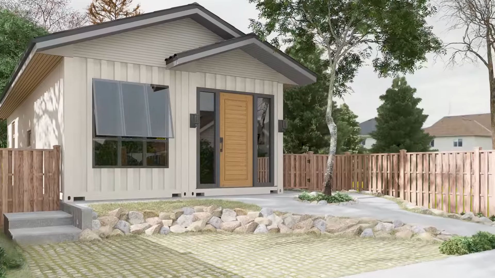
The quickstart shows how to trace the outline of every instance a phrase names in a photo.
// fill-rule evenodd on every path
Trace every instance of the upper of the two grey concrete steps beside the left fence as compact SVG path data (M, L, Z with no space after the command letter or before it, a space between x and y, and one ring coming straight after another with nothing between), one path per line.
M5 213L8 229L72 225L72 215L57 211Z

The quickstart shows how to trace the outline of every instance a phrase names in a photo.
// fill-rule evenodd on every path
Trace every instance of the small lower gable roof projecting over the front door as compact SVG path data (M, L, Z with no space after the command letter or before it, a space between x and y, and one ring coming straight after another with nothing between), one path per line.
M207 46L176 53L165 59L167 69L190 63L199 59L242 49L262 63L294 81L297 85L308 85L316 82L316 74L305 66L280 51L275 46L263 42L255 34L221 41Z

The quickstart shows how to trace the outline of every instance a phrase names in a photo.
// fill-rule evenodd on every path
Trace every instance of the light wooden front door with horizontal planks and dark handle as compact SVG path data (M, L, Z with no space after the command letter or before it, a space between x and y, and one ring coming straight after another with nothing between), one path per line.
M252 95L220 93L220 187L252 186Z

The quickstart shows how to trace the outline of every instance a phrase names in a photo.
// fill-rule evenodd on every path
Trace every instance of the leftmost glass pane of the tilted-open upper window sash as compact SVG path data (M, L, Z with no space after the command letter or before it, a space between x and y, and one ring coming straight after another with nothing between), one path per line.
M93 80L96 134L123 135L118 81Z

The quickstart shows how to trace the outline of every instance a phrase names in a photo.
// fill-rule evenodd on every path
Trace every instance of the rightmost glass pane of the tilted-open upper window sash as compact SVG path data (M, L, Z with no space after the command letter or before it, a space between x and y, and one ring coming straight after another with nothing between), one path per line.
M147 85L151 137L173 138L168 88Z

